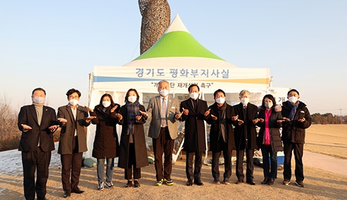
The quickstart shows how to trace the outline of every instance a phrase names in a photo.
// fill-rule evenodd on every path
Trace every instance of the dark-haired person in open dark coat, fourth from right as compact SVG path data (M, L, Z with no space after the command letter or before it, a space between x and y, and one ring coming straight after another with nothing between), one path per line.
M214 101L210 107L208 124L210 128L210 151L212 151L213 183L219 184L219 157L223 151L224 174L223 184L229 184L231 176L231 152L235 150L235 136L232 124L237 123L234 109L226 103L226 92L219 89L214 92Z

